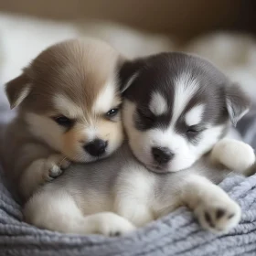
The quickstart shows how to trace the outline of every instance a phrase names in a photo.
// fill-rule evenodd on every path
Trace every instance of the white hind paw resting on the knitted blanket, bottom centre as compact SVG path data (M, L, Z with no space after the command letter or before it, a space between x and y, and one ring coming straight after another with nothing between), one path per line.
M98 225L98 233L107 237L122 236L136 229L128 219L111 212L105 213Z

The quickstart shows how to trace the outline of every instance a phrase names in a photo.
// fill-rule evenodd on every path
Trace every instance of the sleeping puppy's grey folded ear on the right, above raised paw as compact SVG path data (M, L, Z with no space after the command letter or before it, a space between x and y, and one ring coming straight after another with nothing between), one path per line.
M238 84L231 84L226 89L226 105L230 121L236 126L240 119L249 112L251 101Z

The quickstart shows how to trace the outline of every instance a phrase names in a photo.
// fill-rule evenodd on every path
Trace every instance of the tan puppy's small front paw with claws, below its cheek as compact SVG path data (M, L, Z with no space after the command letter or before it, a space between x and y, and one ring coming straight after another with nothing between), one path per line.
M70 162L65 156L59 154L50 155L44 165L44 180L51 181L60 176L69 165Z

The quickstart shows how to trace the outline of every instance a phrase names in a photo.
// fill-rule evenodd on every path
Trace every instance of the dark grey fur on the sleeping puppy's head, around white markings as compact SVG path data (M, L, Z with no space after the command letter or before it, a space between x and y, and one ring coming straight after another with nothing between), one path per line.
M127 76L131 77L138 72L130 87L124 91L125 99L137 104L136 127L148 130L157 127L166 127L172 120L173 102L175 97L175 80L184 73L191 74L191 80L196 79L199 88L188 102L185 111L180 115L176 123L179 133L184 133L184 116L195 105L207 103L202 123L228 122L229 116L240 116L250 106L249 98L240 90L239 86L230 83L228 78L219 69L205 59L197 58L183 53L162 53L146 59L137 59L123 65L120 72L121 80L125 83ZM160 117L155 117L148 110L150 97L153 91L159 91L168 102L168 112ZM229 100L229 114L226 100ZM148 123L143 117L150 116L155 120Z

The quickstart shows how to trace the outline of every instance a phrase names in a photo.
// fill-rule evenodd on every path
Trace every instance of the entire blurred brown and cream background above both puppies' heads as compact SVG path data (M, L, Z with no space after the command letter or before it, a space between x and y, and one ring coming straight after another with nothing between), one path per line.
M0 0L0 83L48 45L92 36L130 58L197 53L256 99L255 14L253 0Z

